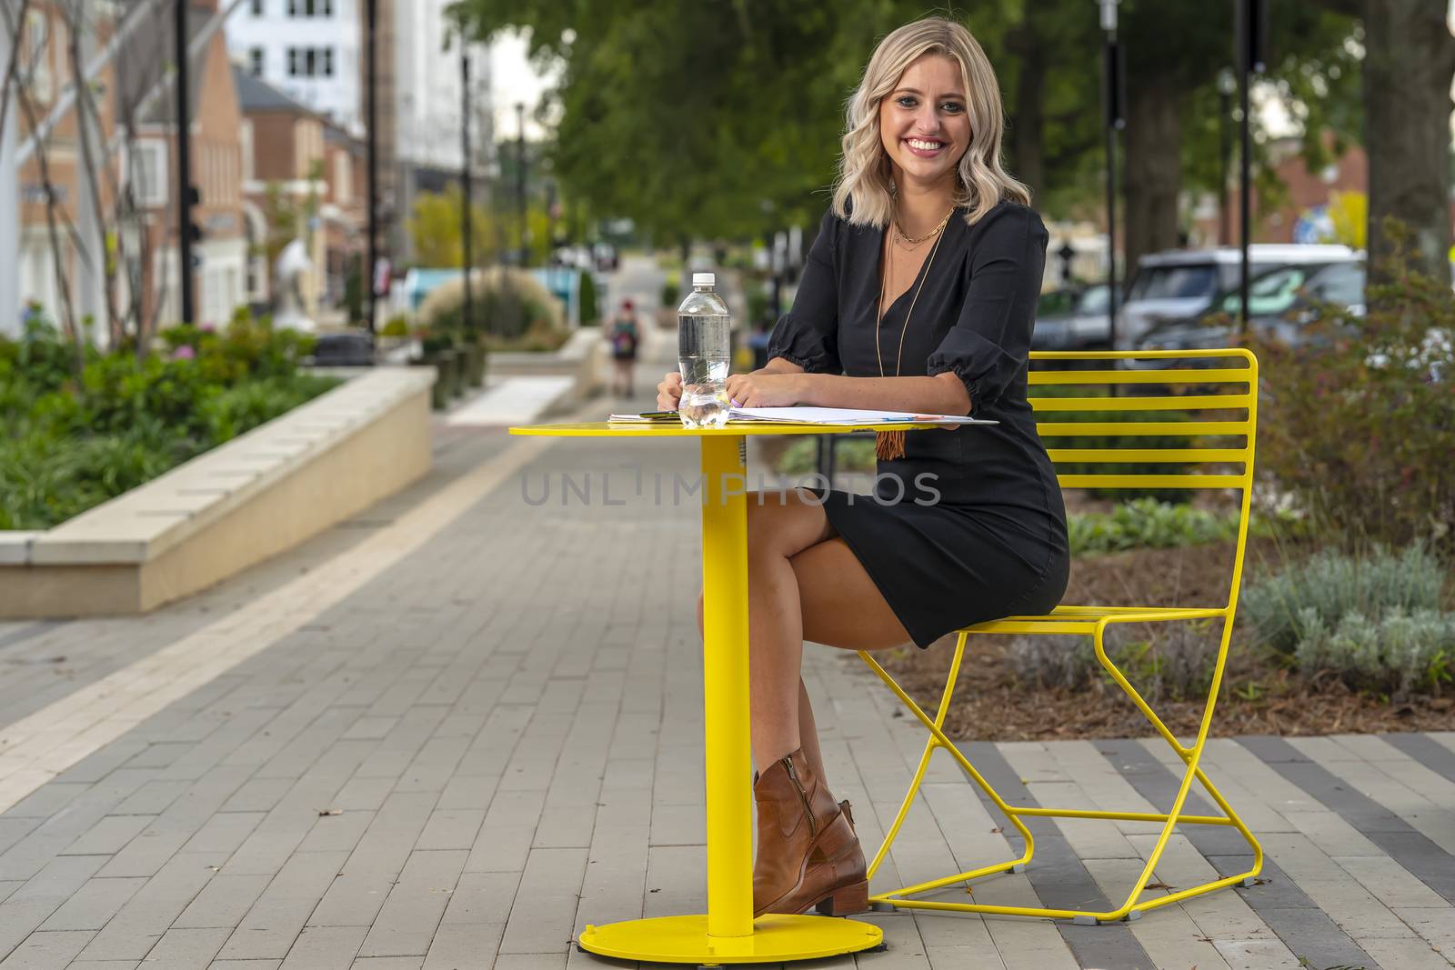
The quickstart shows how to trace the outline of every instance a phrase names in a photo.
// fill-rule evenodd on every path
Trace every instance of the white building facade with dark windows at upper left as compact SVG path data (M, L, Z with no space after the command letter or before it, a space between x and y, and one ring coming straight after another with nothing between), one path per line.
M362 135L361 7L362 0L243 0L227 22L228 55L253 77Z

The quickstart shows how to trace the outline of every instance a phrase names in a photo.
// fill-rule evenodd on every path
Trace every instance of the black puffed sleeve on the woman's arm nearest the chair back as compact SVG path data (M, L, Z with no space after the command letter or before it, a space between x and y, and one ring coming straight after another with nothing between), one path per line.
M965 305L925 364L931 377L954 371L965 382L972 417L1026 366L1049 240L1024 205L1001 205L975 228Z

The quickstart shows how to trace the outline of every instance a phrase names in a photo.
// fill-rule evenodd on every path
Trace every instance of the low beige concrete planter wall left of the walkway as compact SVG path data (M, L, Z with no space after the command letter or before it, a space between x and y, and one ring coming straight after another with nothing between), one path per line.
M44 532L0 532L0 618L140 614L429 470L429 368L370 369Z

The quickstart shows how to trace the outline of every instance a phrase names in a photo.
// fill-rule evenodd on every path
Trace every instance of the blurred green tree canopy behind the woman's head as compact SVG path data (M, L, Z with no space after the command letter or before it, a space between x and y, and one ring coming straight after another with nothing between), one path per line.
M477 35L528 32L560 65L554 175L595 212L659 241L745 237L810 224L828 204L844 105L874 44L925 16L902 0L460 0ZM997 68L1011 172L1048 215L1100 215L1101 42L1090 0L988 0L941 9ZM1232 9L1123 0L1132 103L1123 180L1129 257L1176 244L1184 185L1218 180L1216 77L1232 61ZM1312 164L1359 131L1358 20L1275 4L1269 90L1302 122ZM1264 180L1264 189L1267 189Z

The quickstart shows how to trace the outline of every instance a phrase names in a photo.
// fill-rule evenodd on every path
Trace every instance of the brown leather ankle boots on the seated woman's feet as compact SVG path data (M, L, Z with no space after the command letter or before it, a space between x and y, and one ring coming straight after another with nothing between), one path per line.
M752 867L752 915L826 916L869 909L864 852L847 801L834 803L799 749L780 758L752 785L758 803L758 858Z

